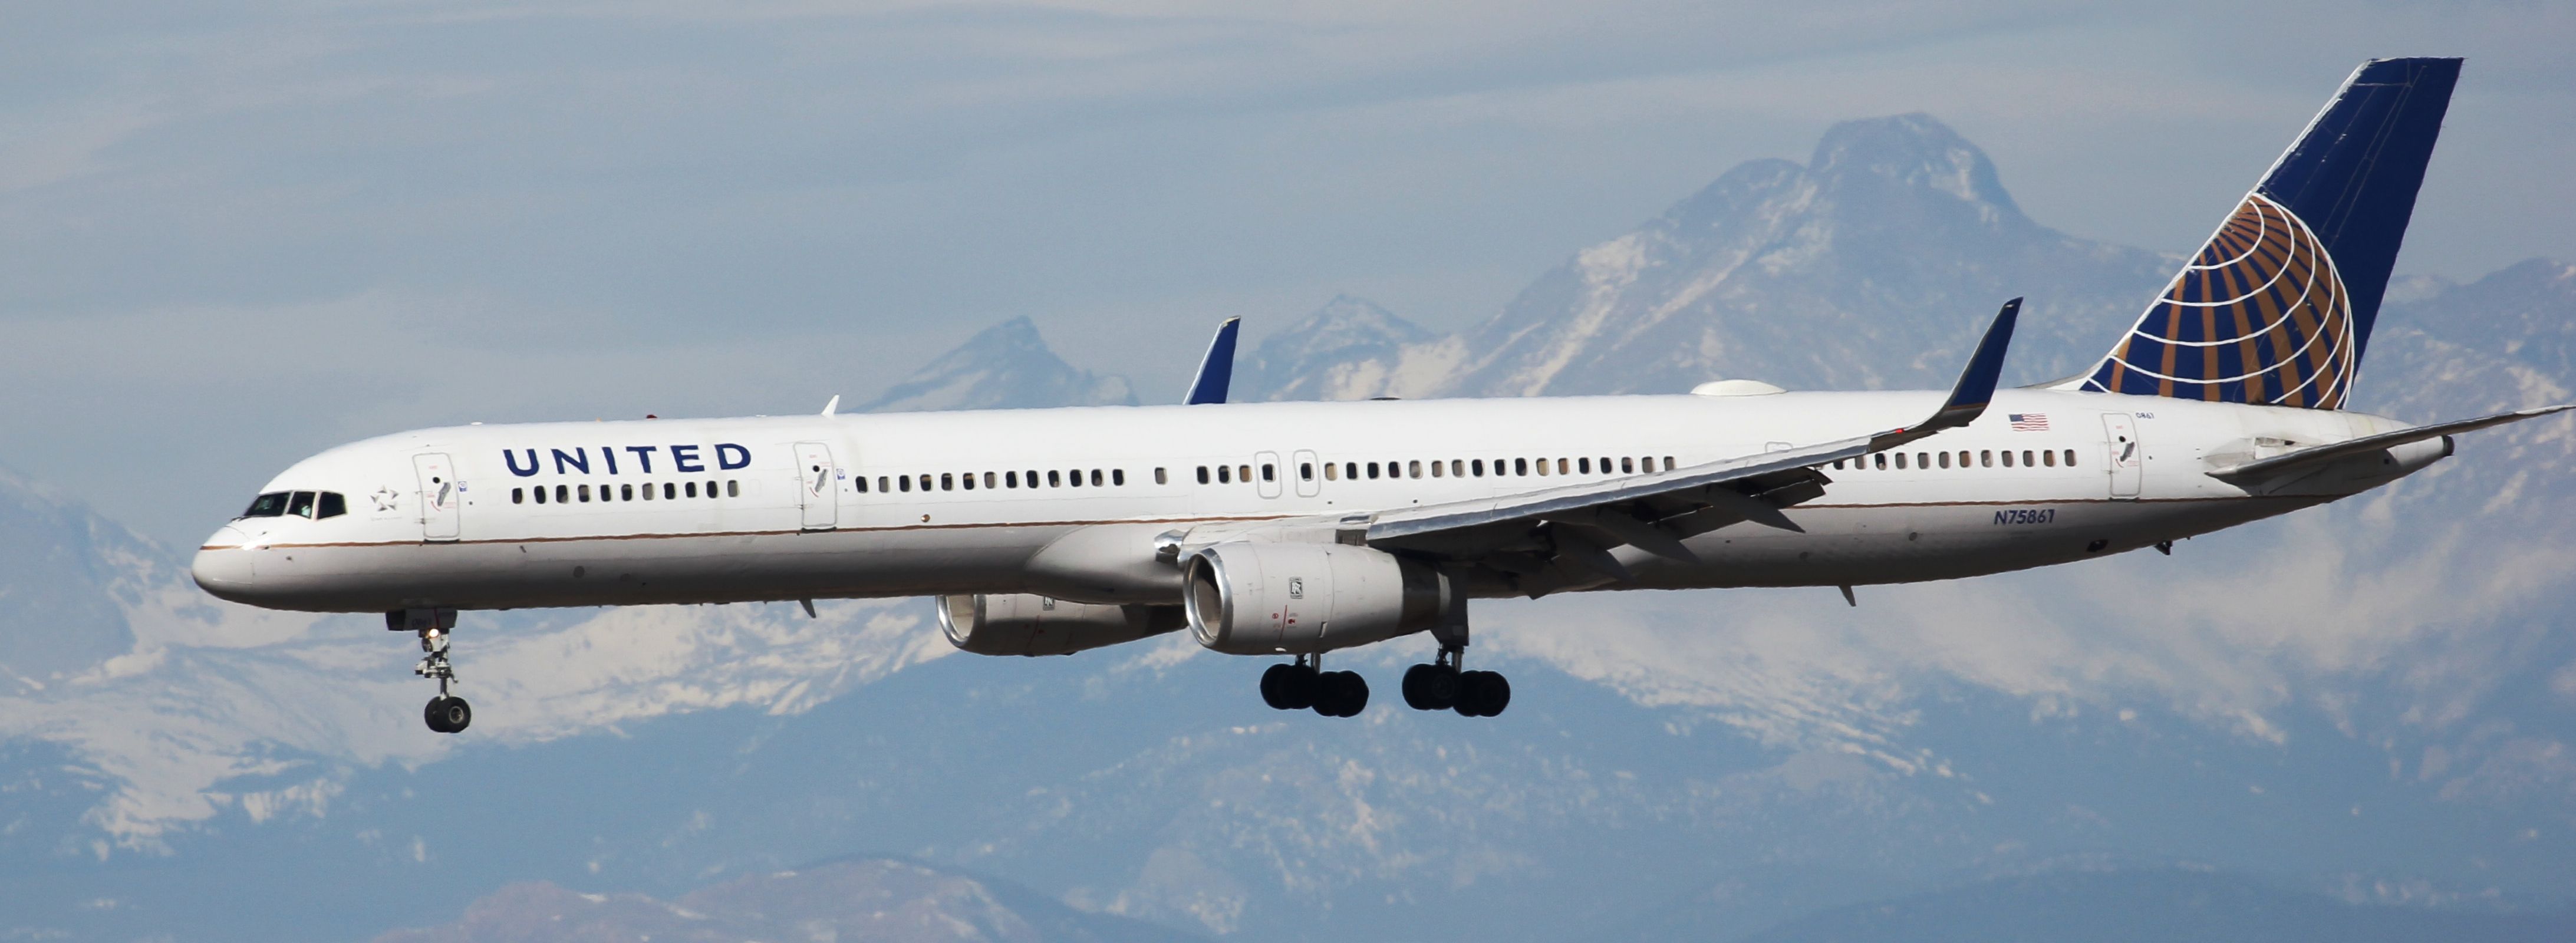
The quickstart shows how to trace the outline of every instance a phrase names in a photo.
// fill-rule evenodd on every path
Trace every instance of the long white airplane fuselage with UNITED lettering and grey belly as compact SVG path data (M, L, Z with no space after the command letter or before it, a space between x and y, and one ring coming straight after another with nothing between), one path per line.
M301 611L945 593L1177 603L1180 572L1154 559L1164 533L1690 466L1904 425L1940 399L1793 392L433 428L294 464L263 492L337 492L348 513L237 518L198 551L196 575L222 598ZM1692 536L1698 564L1618 549L1633 580L1605 587L1911 582L2128 551L2439 459L2439 448L2393 451L2262 495L2205 474L2398 428L2354 412L2007 389L1968 428L1824 466L1832 484L1785 510L1790 528L1747 520ZM1880 469L1899 453L1904 469Z

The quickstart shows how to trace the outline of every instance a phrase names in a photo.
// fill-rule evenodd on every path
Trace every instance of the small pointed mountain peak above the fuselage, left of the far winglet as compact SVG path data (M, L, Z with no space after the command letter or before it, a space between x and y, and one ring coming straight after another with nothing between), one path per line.
M855 412L1133 407L1126 376L1074 368L1028 317L987 327Z

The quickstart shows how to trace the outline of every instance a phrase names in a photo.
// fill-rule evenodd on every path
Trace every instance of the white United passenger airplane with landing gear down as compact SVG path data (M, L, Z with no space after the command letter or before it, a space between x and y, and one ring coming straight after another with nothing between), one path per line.
M433 732L461 611L933 595L976 654L1188 629L1262 701L1355 716L1327 652L1409 634L1409 709L1497 716L1468 600L1839 587L2050 567L2396 482L2452 435L2344 410L2460 59L2354 70L2084 376L1996 389L2020 299L1947 392L1224 402L456 425L296 461L204 541L250 605L420 636ZM1224 361L1224 363L1218 363Z

